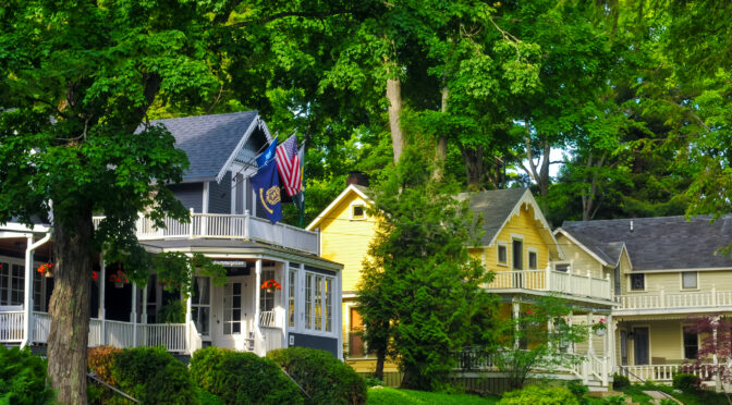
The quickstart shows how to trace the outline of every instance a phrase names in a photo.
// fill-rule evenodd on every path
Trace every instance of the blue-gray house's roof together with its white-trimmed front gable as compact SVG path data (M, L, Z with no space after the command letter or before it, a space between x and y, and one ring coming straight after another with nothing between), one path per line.
M253 164L257 145L272 140L256 111L162 119L150 124L164 125L175 137L175 147L187 155L191 165L183 174L184 183L220 182L232 162L246 159Z

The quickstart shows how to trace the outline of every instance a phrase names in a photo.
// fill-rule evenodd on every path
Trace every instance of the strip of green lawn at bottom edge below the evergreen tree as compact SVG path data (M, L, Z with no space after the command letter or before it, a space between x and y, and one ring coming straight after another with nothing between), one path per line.
M497 396L480 397L469 394L446 394L398 390L392 388L368 389L367 405L406 405L406 404L440 404L440 405L489 405L498 403Z

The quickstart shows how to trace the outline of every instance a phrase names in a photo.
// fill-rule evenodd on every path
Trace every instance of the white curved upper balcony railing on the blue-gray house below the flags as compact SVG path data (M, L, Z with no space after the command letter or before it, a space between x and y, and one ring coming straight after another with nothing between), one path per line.
M95 228L105 217L94 217ZM163 219L164 228L141 217L136 222L136 235L141 241L171 238L222 238L259 241L295 250L318 254L318 233L270 221L252 214L195 213L191 210L190 222L172 218Z

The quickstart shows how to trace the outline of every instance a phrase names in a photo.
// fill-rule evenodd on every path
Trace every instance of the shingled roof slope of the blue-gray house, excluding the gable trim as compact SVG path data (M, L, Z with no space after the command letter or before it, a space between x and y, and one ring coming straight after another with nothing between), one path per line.
M154 120L175 137L175 147L188 156L191 167L183 182L213 180L239 145L257 111Z

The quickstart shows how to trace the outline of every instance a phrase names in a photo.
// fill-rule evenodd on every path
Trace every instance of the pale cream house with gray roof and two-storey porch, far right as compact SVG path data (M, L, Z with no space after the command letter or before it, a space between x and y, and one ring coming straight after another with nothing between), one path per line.
M695 358L690 318L732 312L732 216L564 222L556 236L572 267L614 273L615 363L632 380L670 381Z

